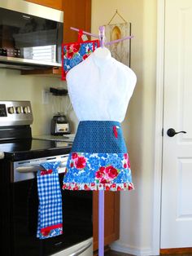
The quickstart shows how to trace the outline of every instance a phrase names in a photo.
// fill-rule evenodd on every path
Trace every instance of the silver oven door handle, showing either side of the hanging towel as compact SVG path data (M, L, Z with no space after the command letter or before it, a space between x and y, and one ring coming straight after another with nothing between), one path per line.
M65 173L66 166L67 166L67 161L61 161L58 168L58 173L59 174ZM34 173L34 172L37 172L38 170L45 170L45 169L39 164L39 165L18 166L15 168L15 170L21 174L24 174L24 173L32 173L32 172Z

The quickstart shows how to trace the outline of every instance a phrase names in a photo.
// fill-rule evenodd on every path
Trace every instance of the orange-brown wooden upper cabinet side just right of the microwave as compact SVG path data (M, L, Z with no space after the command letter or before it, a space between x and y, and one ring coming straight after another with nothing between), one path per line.
M77 40L77 32L70 27L90 32L91 0L63 0L63 11L63 42L76 42Z

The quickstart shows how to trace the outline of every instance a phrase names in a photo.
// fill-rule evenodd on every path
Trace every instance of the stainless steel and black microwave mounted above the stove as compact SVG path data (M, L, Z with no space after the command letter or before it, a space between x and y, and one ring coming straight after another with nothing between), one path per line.
M23 0L0 1L0 68L61 67L63 11Z

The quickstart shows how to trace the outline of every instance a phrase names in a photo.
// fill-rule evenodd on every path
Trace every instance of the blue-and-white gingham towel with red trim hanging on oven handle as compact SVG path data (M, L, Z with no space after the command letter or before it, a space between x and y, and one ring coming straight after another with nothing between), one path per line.
M41 164L45 170L37 171L39 197L37 237L45 239L63 233L62 196L59 184L60 162Z

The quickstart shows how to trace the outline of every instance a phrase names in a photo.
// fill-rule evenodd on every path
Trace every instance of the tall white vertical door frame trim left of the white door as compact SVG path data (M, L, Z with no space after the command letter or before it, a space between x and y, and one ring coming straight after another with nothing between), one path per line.
M157 72L156 72L156 111L155 111L155 165L154 165L154 200L152 252L159 255L160 247L160 207L161 174L164 121L164 7L165 0L157 0Z

